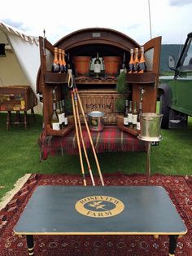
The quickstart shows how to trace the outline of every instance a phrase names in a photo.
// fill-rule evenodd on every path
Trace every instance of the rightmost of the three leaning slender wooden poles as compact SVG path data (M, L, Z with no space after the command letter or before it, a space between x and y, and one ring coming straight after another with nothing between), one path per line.
M86 129L87 129L87 133L88 133L88 135L89 135L89 141L90 141L90 143L91 143L91 147L92 147L92 150L93 150L93 152L94 152L95 162L96 162L96 165L97 165L97 167L98 167L98 174L99 174L99 177L100 177L100 179L101 179L101 183L102 183L102 185L104 186L105 184L104 184L104 181L103 181L103 175L102 175L100 166L99 166L99 164L98 164L98 157L97 157L97 154L96 154L96 152L95 152L93 139L91 138L91 135L90 135L89 126L88 126L88 124L87 124L87 120L86 120L86 117L85 117L85 112L84 112L83 106L82 106L82 104L81 104L81 99L80 99L80 96L79 96L79 94L78 94L77 88L76 88L75 90L76 90L76 97L77 97L77 99L78 99L78 103L79 103L80 108L81 108L81 113L82 113L82 115L83 115L83 117L84 117L84 121L85 121L85 126L86 126Z

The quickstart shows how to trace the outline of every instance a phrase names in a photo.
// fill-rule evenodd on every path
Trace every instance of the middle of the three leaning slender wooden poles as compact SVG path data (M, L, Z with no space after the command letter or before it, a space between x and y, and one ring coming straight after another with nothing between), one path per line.
M76 91L75 90L73 90L73 94L74 94L74 98L75 98L76 117L77 117L77 122L78 122L78 125L79 125L79 131L80 131L80 136L81 136L81 142L82 142L83 150L84 150L84 153L85 153L85 159L87 161L87 166L88 166L88 169L89 169L89 174L90 174L90 178L91 178L92 184L93 184L93 186L95 186L94 176L93 176L92 170L90 168L89 158L88 158L88 155L87 155L87 152L86 152L85 142L84 142L84 139L83 139L83 134L82 134L82 129L81 129L81 121L80 121L80 116L79 116L79 109L78 109L78 104L77 104L77 100L76 100Z

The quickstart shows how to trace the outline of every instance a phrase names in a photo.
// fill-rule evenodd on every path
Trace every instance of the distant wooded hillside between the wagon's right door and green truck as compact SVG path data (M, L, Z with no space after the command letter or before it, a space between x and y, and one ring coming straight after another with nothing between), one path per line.
M174 55L175 60L178 60L178 56L181 53L182 46L180 44L166 44L161 46L160 54L160 73L163 71L169 71L168 68L168 56Z

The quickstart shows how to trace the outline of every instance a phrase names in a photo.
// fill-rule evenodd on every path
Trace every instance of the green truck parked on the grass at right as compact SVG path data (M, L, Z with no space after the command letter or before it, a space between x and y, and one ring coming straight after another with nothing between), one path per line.
M174 56L169 56L168 65L174 75L159 77L159 111L164 114L161 127L181 128L192 116L192 33L187 35L177 64Z

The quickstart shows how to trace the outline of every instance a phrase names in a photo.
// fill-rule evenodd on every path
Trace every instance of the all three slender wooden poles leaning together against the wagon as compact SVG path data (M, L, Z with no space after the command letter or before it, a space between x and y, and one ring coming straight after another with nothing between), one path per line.
M83 106L81 104L81 99L80 99L80 96L78 94L78 90L76 88L76 83L75 83L74 77L72 76L72 73L68 74L68 87L72 89L71 90L72 111L73 111L74 121L75 121L76 140L77 140L77 145L78 145L78 150L79 150L79 157L80 157L80 163L81 163L81 173L82 173L82 176L83 176L84 186L86 186L86 179L85 179L85 170L84 170L84 164L83 164L83 157L82 157L82 152L81 152L81 143L82 143L82 147L83 147L83 150L84 150L85 159L86 159L86 162L87 162L87 166L88 166L88 169L89 169L89 174L90 174L90 178L91 178L93 186L95 186L95 183L94 183L94 176L93 176L92 170L90 168L90 164L89 164L89 158L88 158L87 151L86 151L86 148L85 148L84 138L83 138L83 135L82 135L81 120L80 120L80 115L79 115L78 104L81 108L81 113L84 117L86 130L87 130L87 133L88 133L88 136L89 136L89 141L90 141L90 144L91 144L91 148L94 152L94 159L95 159L96 165L98 167L98 174L99 174L99 177L101 179L102 186L104 186L103 175L102 175L100 166L98 164L98 157L97 157L97 154L95 152L93 139L90 135L89 126L87 124L87 120L86 120L86 117L85 117L85 112L84 112ZM80 138L81 138L81 141L80 141Z

